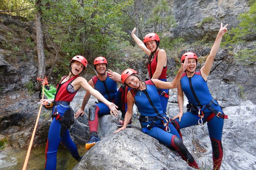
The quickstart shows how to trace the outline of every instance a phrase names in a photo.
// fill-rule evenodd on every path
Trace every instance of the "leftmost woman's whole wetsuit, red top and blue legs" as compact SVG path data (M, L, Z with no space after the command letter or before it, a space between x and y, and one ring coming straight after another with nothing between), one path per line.
M73 86L71 85L72 81L74 81L79 75L70 78L68 81L61 83L66 77L60 81L57 86L57 92L55 95L54 102L57 101L64 101L64 102L71 102L76 95L78 90L74 90ZM58 114L63 117L65 111L70 110L69 105L66 104L58 104L53 106L53 113L58 112ZM76 160L80 160L80 155L78 153L78 149L76 148L75 143L71 140L69 135L69 130L66 129L62 124L59 123L56 118L53 118L53 121L49 128L47 145L46 145L46 170L54 170L56 169L57 163L57 151L62 141L63 145L68 148L69 152L71 153L72 157Z

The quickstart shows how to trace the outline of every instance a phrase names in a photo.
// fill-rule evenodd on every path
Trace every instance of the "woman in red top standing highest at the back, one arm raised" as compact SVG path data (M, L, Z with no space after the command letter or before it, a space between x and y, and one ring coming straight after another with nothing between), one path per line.
M135 35L136 28L132 30L131 36L138 46L149 56L146 63L150 79L166 81L167 56L163 49L159 48L160 38L156 33L147 34L143 42ZM158 89L161 105L166 112L169 98L169 89Z

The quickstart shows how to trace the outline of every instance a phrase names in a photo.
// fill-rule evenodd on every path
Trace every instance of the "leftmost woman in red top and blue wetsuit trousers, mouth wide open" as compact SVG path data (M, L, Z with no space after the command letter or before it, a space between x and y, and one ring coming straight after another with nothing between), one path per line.
M86 91L89 91L90 94L105 103L110 108L111 114L117 115L118 113L116 109L117 106L114 103L107 101L106 98L100 94L100 92L93 89L83 77L79 76L79 74L85 70L86 66L87 60L83 56L73 57L69 65L69 75L62 77L60 80L54 100L41 100L41 102L53 102L53 121L49 128L46 145L45 169L47 170L56 169L57 151L61 141L65 147L68 148L73 158L78 161L81 160L75 143L70 138L68 130L71 124L74 123L74 112L69 105L80 87L84 88Z

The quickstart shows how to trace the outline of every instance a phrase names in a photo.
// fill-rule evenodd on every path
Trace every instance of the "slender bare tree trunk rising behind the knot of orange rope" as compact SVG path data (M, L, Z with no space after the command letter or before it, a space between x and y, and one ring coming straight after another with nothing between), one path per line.
M41 0L36 2L36 36L37 36L37 56L38 56L38 78L45 78L45 57L44 57L44 46L43 46L43 25L41 21ZM40 90L41 81L37 81L35 90Z

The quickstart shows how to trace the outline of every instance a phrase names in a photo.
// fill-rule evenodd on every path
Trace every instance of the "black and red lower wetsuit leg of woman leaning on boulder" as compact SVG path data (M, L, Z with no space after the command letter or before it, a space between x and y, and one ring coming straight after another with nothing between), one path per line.
M171 149L177 151L181 155L181 158L188 162L188 165L195 169L199 169L193 156L191 155L190 152L188 152L187 148L185 147L185 145L183 144L182 140L179 137L175 135L172 136L171 146Z

